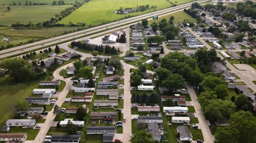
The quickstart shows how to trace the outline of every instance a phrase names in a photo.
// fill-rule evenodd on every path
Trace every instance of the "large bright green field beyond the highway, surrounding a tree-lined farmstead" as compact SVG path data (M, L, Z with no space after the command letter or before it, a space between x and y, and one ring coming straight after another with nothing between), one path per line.
M188 0L183 0L184 2ZM59 23L69 23L72 21L73 23L85 21L87 25L97 25L101 24L102 22L110 22L114 21L115 19L121 19L125 17L124 14L115 14L114 11L119 9L120 7L125 8L136 8L137 6L141 5L150 5L157 6L157 9L164 9L167 7L172 6L169 2L165 0L92 0L87 4L84 4L82 7L71 13L69 16L65 17ZM144 12L136 12L127 14L129 15L139 15L142 13L147 13L153 11L154 9L148 9Z

